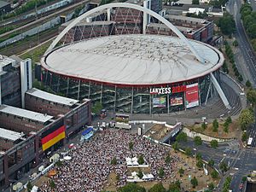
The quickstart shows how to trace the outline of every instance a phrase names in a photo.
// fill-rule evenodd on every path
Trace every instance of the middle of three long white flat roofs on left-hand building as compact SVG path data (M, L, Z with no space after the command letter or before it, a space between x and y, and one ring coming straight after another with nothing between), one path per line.
M53 118L53 116L50 116L50 115L44 115L43 113L37 113L37 112L29 111L23 108L14 108L8 105L1 105L0 112L13 114L21 118L36 120L42 123Z

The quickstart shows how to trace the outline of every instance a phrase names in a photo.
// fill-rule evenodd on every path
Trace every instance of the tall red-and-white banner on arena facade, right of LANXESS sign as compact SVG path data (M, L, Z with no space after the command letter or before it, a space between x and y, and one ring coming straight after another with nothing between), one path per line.
M193 108L199 105L198 83L186 86L186 108Z

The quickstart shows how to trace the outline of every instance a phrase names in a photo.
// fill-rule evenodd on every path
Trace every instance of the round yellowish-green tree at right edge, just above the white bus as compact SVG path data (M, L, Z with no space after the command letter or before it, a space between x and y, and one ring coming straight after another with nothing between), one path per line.
M241 130L246 130L249 125L252 125L255 121L253 111L251 109L243 109L239 116L239 124L241 125Z

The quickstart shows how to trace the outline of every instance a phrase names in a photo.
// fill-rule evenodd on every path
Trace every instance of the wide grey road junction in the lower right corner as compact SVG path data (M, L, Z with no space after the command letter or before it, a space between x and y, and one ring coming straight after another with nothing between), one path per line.
M250 148L240 148L238 141L228 143L219 143L218 148L209 147L208 143L203 143L201 146L195 146L195 143L189 138L188 142L180 143L182 148L195 148L194 153L201 153L203 160L214 160L214 167L220 172L218 165L224 161L230 165L230 171L225 176L231 175L232 182L230 189L232 192L240 192L239 185L241 179L247 176L252 170L256 170L256 151ZM219 183L217 191L221 191L224 184L224 177Z

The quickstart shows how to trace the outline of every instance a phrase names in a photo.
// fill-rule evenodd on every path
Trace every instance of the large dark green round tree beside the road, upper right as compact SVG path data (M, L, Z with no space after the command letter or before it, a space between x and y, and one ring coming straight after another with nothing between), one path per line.
M223 17L219 18L217 25L224 35L231 35L233 32L236 32L235 20L228 13L225 13Z

